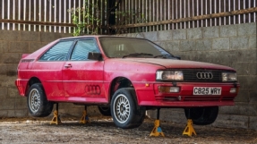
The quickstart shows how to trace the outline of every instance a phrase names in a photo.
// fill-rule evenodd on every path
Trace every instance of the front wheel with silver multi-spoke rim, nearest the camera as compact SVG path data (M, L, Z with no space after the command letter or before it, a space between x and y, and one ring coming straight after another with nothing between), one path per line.
M111 100L111 114L117 127L136 128L145 117L145 107L138 106L133 88L118 89Z

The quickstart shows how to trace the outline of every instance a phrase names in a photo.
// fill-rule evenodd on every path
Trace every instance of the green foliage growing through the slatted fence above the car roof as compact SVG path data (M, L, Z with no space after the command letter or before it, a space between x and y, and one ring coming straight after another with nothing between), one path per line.
M98 1L94 3L88 3L86 0L85 7L77 7L69 9L68 12L72 13L73 24L75 24L75 28L73 31L73 36L80 36L84 34L95 35L99 34L99 30L101 29L101 22L108 21L108 18L111 14L115 14L116 16L116 34L128 33L127 28L123 28L120 26L124 26L126 24L131 23L143 23L147 22L144 14L141 13L140 10L129 10L129 11L118 11L116 9L115 12L107 13L107 18L105 20L101 20L100 13L103 13L99 9ZM110 11L110 10L109 10ZM106 25L106 27L110 28L110 25ZM143 32L144 28L135 28L135 32Z

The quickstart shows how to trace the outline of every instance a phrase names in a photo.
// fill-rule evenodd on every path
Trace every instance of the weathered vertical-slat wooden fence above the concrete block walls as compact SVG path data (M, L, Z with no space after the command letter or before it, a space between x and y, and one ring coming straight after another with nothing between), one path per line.
M100 20L78 17L98 24L99 34L249 23L257 12L256 0L0 0L0 29L72 33L77 7Z

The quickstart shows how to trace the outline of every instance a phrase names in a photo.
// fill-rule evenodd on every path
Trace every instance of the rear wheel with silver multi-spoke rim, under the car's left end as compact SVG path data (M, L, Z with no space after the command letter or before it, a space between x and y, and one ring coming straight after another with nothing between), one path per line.
M30 114L35 117L46 117L52 113L54 104L47 101L42 84L33 84L28 92L27 104Z

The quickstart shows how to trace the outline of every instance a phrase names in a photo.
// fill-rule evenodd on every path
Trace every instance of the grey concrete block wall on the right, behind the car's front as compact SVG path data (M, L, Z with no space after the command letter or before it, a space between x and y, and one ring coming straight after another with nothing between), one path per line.
M148 38L184 60L223 64L237 71L241 84L235 106L220 106L213 126L257 130L256 23L127 34ZM183 109L161 109L160 119L186 123ZM156 112L149 111L151 117Z

